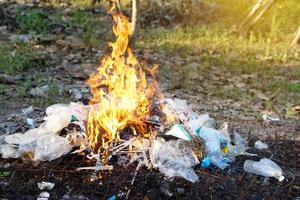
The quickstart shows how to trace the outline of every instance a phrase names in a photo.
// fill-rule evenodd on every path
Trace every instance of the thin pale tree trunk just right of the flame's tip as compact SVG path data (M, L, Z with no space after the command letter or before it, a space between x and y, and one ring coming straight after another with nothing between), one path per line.
M130 47L134 47L138 29L139 29L139 20L138 20L139 7L140 7L140 0L132 0L131 27L130 27L130 34L129 34Z

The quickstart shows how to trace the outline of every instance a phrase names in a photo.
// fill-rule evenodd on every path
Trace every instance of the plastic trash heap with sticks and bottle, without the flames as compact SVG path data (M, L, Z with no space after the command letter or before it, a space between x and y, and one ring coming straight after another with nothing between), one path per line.
M113 170L110 160L114 157L117 158L114 164L128 166L138 163L136 171L142 166L155 168L167 178L182 177L193 183L198 181L195 167L215 166L224 170L237 156L256 156L246 152L245 138L238 133L229 133L227 123L215 129L214 119L207 114L198 115L185 100L166 98L160 103L163 104L162 112L170 118L168 124L160 123L158 116L152 116L152 123L156 119L156 128L149 138L131 134L99 153L89 149L86 136L90 106L73 102L54 104L46 108L44 122L37 128L7 135L0 140L0 154L2 158L18 158L26 154L34 161L51 161L70 152L85 153L88 158L95 159L96 164L78 170L96 172ZM268 145L257 141L255 148L267 149ZM244 170L275 177L279 181L284 179L281 168L267 158L258 162L246 160Z

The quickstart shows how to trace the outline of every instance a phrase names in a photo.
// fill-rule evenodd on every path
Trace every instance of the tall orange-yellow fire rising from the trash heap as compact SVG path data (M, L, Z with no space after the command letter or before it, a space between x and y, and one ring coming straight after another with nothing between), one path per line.
M87 82L92 94L87 122L92 149L118 141L119 131L129 125L146 134L145 120L156 90L156 82L147 81L145 71L128 47L130 22L121 13L113 14L113 20L116 41L109 43L111 55L102 59Z

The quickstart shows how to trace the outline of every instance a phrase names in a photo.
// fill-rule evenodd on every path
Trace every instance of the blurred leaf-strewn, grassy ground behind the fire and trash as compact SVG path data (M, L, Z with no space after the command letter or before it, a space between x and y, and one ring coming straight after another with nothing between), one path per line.
M120 0L129 18L136 2ZM167 96L223 117L299 117L299 0L138 2L133 46L140 60L159 65ZM85 81L114 40L109 2L0 5L1 113L88 99Z

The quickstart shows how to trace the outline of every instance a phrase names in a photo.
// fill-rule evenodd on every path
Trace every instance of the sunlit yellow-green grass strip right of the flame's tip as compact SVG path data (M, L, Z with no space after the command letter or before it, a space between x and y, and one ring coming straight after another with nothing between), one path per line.
M201 63L237 73L264 71L272 76L272 68L279 65L297 66L300 60L299 50L291 49L287 39L273 41L254 33L250 37L237 36L217 24L147 29L141 34L143 38L138 41L139 48L146 46L169 53L179 52L182 56L199 55ZM286 38L291 38L291 35Z

